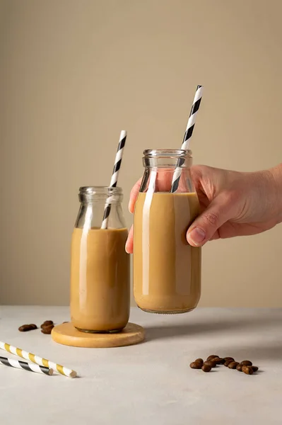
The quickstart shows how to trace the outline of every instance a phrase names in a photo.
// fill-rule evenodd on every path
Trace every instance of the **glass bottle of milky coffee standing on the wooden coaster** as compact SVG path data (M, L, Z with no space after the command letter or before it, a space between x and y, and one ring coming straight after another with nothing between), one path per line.
M130 263L122 189L86 186L71 239L71 322L79 331L112 332L129 319ZM101 229L110 200L107 228Z

